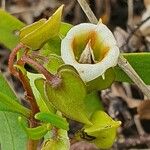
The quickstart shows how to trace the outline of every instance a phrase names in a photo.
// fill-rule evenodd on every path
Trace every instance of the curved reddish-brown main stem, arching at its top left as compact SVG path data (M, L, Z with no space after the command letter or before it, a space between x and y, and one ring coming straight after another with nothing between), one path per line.
M39 112L39 108L38 108L38 105L36 103L36 100L35 100L35 97L33 95L33 92L32 92L32 89L31 89L31 86L30 86L30 83L29 83L29 80L28 80L28 77L26 75L24 75L21 71L18 71L16 70L16 68L14 67L14 62L15 62L15 58L16 58L16 55L17 55L17 52L23 48L24 45L22 44L19 44L17 45L16 48L14 48L9 56L9 61L8 61L8 66L9 66L9 70L11 72L11 74L13 74L15 77L17 77L22 85L23 85L23 88L25 90L25 97L26 99L30 102L30 105L31 105L31 116L30 116L30 127L36 127L37 126L37 122L36 120L34 119L34 115ZM26 51L25 51L26 52ZM17 64L20 65L21 67L24 67L24 62L19 59L17 61ZM37 145L38 145L38 142L39 141L34 141L34 140L28 140L28 143L27 143L27 149L28 150L36 150L37 149Z

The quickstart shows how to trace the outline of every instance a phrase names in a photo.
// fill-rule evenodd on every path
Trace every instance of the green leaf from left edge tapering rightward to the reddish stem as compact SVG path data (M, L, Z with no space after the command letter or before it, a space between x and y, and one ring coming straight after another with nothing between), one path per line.
M9 111L21 114L25 117L30 116L30 110L13 100L11 97L0 92L0 111Z

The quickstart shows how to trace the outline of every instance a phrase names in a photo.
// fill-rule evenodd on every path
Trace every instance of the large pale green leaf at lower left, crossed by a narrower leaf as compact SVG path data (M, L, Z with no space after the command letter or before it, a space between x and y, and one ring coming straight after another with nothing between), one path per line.
M0 73L0 92L17 101L17 97ZM26 150L27 137L18 124L18 115L0 112L0 144L2 150Z

